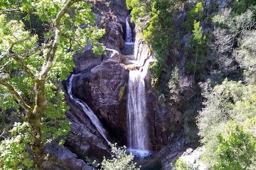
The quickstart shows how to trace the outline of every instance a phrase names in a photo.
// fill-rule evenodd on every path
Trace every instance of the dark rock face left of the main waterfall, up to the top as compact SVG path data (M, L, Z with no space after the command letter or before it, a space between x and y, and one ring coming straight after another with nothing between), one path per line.
M83 53L74 56L76 68L73 73L80 73L80 76L74 80L76 85L73 87L73 95L91 107L115 141L126 144L125 103L128 70L120 63L123 56L119 49L124 46L126 16L129 12L125 0L109 2L116 21L106 21L104 25L99 24L101 18L96 21L106 30L100 41L108 48L107 54L94 55L91 45L87 44ZM109 9L105 8L105 5L102 5L105 13L109 12ZM66 118L72 124L65 146L82 160L85 160L85 157L92 160L102 160L103 155L109 157L110 146L84 114L80 105L68 95L66 101L70 107ZM110 135L107 138L112 141Z

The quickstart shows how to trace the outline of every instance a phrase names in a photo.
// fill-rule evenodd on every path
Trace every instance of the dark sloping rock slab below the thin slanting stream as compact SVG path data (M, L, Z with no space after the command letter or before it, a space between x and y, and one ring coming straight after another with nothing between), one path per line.
M67 102L70 108L66 112L66 118L72 124L65 146L82 159L92 157L101 160L103 155L109 156L110 146L85 115L80 105L69 98L67 98Z

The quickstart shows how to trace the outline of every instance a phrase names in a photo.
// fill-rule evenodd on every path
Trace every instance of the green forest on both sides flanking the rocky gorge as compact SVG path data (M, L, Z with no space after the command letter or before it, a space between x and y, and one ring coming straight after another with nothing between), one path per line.
M229 1L222 9L219 1L207 2L126 5L155 54L157 104L181 113L170 131L204 147L205 169L256 169L256 1ZM108 22L116 16L102 0L0 1L0 169L47 169L57 161L45 150L52 141L63 145L71 130L63 81L86 44L105 54L99 39ZM112 157L94 168L140 169L133 158L113 144ZM199 168L176 159L172 169Z

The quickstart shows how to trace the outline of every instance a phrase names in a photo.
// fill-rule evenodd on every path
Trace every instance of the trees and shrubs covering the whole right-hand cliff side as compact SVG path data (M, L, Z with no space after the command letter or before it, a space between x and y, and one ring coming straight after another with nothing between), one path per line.
M199 132L190 139L205 145L209 168L255 169L255 1L233 1L224 10L204 1L176 3L177 8L165 2L155 10L151 1L127 1L144 41L157 53L151 70L160 82L155 90L182 112L187 137ZM188 12L177 30L171 23L179 7ZM196 122L198 129L191 128Z

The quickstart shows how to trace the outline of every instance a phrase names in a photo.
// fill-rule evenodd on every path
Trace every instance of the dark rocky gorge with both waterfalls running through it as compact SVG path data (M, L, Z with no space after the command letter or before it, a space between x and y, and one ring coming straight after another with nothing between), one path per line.
M137 157L153 154L162 169L169 169L170 162L196 146L195 108L202 102L199 85L180 69L180 96L174 98L166 82L170 68L165 68L158 80L160 89L153 89L149 67L156 53L130 22L126 1L113 1L111 7L118 22L104 25L107 32L100 41L106 54L94 55L87 44L83 53L74 56L76 68L66 87L70 106L66 117L72 125L65 146L82 160L85 155L101 160L111 154L108 143L117 143ZM174 35L179 35L187 13L180 10L174 17ZM174 41L166 65L185 67L187 36L191 35ZM186 117L189 113L194 115Z

